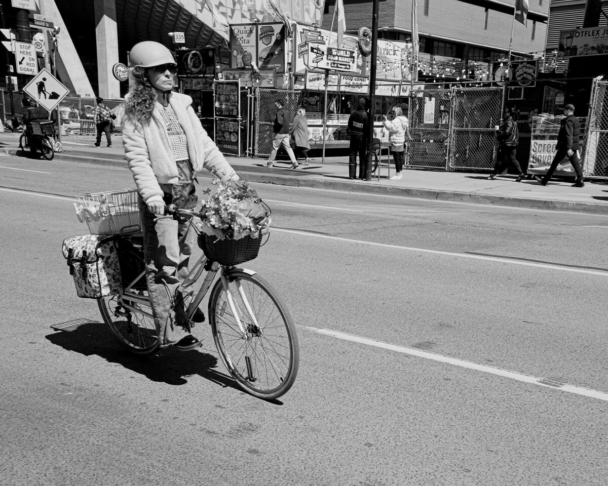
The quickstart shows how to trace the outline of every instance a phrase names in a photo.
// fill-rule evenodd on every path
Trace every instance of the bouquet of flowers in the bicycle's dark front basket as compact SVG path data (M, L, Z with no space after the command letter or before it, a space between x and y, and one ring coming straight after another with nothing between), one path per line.
M268 233L270 211L254 188L244 180L212 181L201 207L201 231L219 240L238 240L245 236L259 238Z

